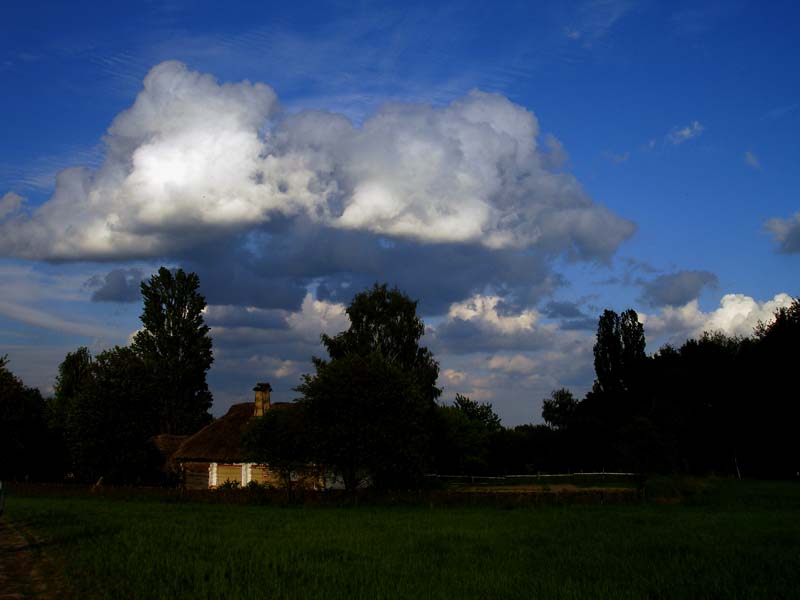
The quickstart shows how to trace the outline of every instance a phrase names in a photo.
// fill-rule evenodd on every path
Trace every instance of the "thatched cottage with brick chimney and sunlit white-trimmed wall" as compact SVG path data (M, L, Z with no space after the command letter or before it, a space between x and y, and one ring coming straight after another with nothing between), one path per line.
M172 455L172 462L180 465L187 488L215 488L227 481L242 486L251 481L280 485L277 474L266 465L244 460L242 434L251 419L263 416L272 406L272 387L268 383L259 383L253 391L254 403L234 404L224 417L185 439Z

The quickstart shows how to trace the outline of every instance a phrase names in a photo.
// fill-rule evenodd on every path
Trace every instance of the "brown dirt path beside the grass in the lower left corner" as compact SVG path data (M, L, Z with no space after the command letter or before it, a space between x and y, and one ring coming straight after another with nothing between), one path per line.
M52 576L52 565L38 546L7 517L0 517L0 600L68 597L63 582Z

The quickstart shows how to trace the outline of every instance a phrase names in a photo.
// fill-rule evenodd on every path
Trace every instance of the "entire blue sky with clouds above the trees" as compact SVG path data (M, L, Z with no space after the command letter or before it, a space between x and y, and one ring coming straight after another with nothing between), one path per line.
M198 273L212 412L297 396L375 282L418 300L443 401L506 425L800 294L800 8L38 2L0 20L0 355L52 393Z

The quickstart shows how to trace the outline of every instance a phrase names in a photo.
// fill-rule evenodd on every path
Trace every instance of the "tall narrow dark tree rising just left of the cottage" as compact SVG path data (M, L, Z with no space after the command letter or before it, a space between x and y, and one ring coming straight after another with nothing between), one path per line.
M164 267L142 282L143 328L131 347L152 378L161 433L193 433L210 420L206 373L214 357L199 285L196 274Z

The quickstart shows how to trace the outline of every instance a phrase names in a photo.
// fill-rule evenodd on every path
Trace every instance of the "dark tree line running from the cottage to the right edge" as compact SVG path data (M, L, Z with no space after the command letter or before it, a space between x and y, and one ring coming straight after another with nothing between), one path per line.
M322 336L328 360L301 398L251 427L252 460L287 476L325 465L353 489L420 485L424 473L504 475L624 471L796 478L800 300L749 337L704 333L645 352L634 310L606 310L596 379L577 399L544 400L544 424L503 427L490 403L440 403L438 363L419 346L416 303L376 285L347 309L349 330ZM291 439L291 443L283 440Z

